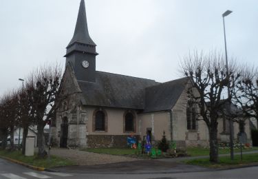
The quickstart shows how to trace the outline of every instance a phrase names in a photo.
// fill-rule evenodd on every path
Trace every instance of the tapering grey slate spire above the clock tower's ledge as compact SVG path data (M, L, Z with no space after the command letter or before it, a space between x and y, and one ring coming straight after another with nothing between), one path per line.
M78 12L76 27L74 30L74 36L72 37L72 40L69 42L67 47L69 47L75 42L96 46L94 41L92 41L92 39L89 36L84 0L80 1L80 8Z

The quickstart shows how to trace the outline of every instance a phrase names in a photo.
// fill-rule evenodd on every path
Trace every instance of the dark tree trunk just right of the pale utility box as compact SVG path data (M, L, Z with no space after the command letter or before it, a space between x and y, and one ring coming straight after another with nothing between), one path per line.
M37 125L37 129L38 129L37 137L38 137L38 147L39 147L38 156L41 158L47 155L47 152L45 151L44 127L45 125L42 123L39 123Z

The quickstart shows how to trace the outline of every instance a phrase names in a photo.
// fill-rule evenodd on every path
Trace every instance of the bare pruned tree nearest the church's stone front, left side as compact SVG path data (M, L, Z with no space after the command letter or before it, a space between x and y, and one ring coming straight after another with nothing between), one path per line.
M45 65L32 72L28 83L32 84L28 89L34 123L38 130L38 156L43 157L45 151L44 127L46 121L54 117L56 109L56 96L61 83L61 67L58 65Z

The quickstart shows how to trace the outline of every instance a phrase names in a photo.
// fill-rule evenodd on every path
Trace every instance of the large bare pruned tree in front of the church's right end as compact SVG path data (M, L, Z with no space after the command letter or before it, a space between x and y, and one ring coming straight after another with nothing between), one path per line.
M239 76L233 74L234 64L231 63L226 72L226 63L221 54L210 52L203 54L194 52L182 61L182 70L190 78L193 87L188 94L193 103L200 109L200 116L209 131L210 161L218 162L217 119L222 113L222 106L230 102L230 96L222 100L224 88L230 83L235 84Z

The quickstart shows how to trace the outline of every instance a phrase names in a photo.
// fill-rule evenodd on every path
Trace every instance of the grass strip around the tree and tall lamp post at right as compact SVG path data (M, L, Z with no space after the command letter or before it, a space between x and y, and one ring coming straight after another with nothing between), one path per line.
M219 163L213 164L209 162L208 158L184 160L184 163L189 165L200 165L203 167L219 168L230 166L241 166L258 162L258 154L243 154L243 160L241 161L240 155L235 155L234 160L230 160L230 156L219 157Z

